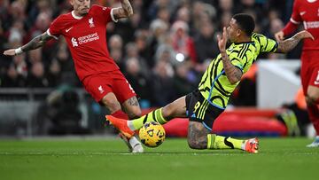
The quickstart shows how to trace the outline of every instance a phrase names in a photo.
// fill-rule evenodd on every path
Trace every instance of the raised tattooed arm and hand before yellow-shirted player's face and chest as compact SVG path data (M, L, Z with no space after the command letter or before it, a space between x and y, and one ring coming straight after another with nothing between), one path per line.
M242 71L231 64L230 57L226 53L226 43L227 43L227 35L226 35L226 27L223 27L222 36L218 35L218 47L221 51L222 55L222 65L225 70L225 74L229 79L231 84L239 82L241 76L243 75Z

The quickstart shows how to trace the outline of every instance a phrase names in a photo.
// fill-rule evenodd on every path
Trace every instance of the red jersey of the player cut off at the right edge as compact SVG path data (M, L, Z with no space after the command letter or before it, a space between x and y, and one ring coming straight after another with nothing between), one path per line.
M292 17L283 30L284 35L292 34L300 23L315 37L315 41L305 39L303 49L319 50L319 0L295 0Z

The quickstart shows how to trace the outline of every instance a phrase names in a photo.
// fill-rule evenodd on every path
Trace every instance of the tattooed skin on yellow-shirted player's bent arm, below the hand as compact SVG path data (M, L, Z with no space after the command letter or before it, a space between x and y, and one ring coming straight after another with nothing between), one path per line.
M239 68L231 64L230 58L227 55L226 51L222 51L221 55L222 55L222 65L224 67L227 78L230 80L230 83L234 84L236 82L239 82L243 73L241 72Z

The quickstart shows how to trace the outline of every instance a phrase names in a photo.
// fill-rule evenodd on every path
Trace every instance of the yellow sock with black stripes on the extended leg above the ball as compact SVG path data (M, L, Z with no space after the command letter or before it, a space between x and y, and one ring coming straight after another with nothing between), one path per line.
M162 108L156 109L152 111L151 113L147 113L146 115L137 118L135 120L132 120L133 127L135 129L140 129L144 125L144 123L148 121L156 121L159 122L159 124L165 124L167 123L167 120L163 117L163 114L161 112Z

